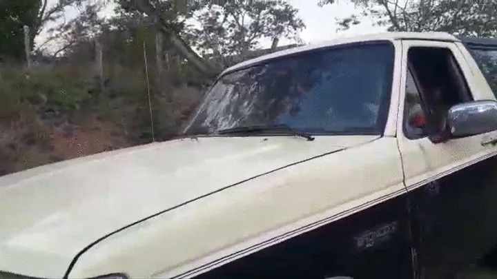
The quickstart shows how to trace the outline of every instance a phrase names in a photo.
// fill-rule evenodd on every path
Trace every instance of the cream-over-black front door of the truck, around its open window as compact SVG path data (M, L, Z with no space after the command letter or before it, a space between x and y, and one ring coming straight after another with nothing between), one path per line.
M409 191L417 273L416 278L452 278L497 243L497 147L482 144L496 132L433 143L429 132L407 129L409 107L427 111L425 86L409 70L413 48L450 52L472 99L495 99L488 85L476 82L474 65L457 43L402 42L402 77L397 137ZM474 74L476 72L476 74ZM418 98L415 98L418 95ZM408 96L406 98L406 96ZM410 96L410 97L409 97ZM415 96L415 97L413 97ZM419 100L412 104L409 100ZM427 114L427 117L428 114ZM409 134L417 131L417 134Z

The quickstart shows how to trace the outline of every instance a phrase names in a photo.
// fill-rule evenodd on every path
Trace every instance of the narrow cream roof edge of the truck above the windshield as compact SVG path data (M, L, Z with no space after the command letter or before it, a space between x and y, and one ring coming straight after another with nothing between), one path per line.
M367 41L378 41L378 40L397 40L397 39L418 39L418 40L430 40L430 41L460 41L458 37L447 32L378 32L373 34L355 35L350 37L340 37L337 39L322 41L320 43L312 43L310 45L302 45L298 48L290 48L287 50L281 50L273 52L271 54L266 54L259 56L254 59L249 59L237 65L224 70L222 74L226 72L231 72L240 68L245 68L246 66L253 65L255 63L260 63L269 59L274 59L280 56L286 56L290 54L295 54L298 52L305 52L307 50L315 50L319 48L326 48L332 45L341 45L344 43L358 43Z

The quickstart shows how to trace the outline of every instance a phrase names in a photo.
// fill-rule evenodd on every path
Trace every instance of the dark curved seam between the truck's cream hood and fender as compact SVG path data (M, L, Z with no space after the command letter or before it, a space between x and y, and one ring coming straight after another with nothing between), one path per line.
M378 140L379 138L381 138L381 137L375 138L375 139L373 139L373 140L371 140L371 141L367 141L366 143L362 143L361 145L364 145L364 144L367 144L367 143L371 143L371 142L373 142L373 141ZM222 188L220 188L220 189L217 189L217 190L215 190L215 191L213 191L213 192L209 192L209 193L204 194L204 195L202 195L202 196L197 196L197 198L193 198L193 199L191 199L191 200L187 200L187 201L186 201L186 202L184 202L184 203L180 203L179 205L175 205L174 207L170 207L170 208L168 208L168 209L164 209L164 210L162 210L162 211L157 212L156 214L153 214L153 215L150 215L150 216L148 216L148 217L142 218L142 219L137 220L137 221L135 221L135 222L133 222L133 223L131 223L131 224L129 224L129 225L126 225L126 226L124 226L124 227L121 227L120 229L117 229L117 230L115 230L115 231L112 231L112 232L110 232L109 234L106 234L106 235L102 236L101 238L98 238L97 240L95 240L95 241L91 242L89 245L87 245L86 247L84 247L84 249L81 249L81 251L79 251L79 253L78 253L78 254L76 254L76 256L75 256L74 258L72 258L72 261L70 262L69 267L68 267L68 269L67 269L66 273L64 274L63 279L68 279L68 278L69 278L69 273L70 273L70 271L71 271L71 270L72 270L72 268L76 265L77 260L78 260L78 259L79 259L79 258L80 258L80 257L81 257L81 256L82 256L85 252L86 252L86 251L88 251L91 247L93 247L93 246L97 245L97 243L98 243L98 242L100 242L101 240L104 240L104 239L108 238L109 236L113 236L114 234L117 234L117 233L119 233L120 231L124 231L125 229L128 229L129 227L133 227L134 225L137 225L137 224L139 224L139 223L142 223L142 222L144 222L144 221L146 221L146 220L149 220L149 219L151 219L151 218L157 217L157 216L159 216L159 215L161 215L161 214L164 214L164 213L166 213L166 212L168 212L168 211L171 211L171 210L173 210L173 209L177 209L178 207L182 207L182 206L184 206L184 205L187 205L188 203L193 203L195 200L199 200L199 199L201 199L201 198L205 198L205 197L207 197L207 196L211 196L212 194L215 194L215 193L218 193L218 192L222 192L222 191L224 191L224 190L226 190L226 189L229 189L229 188L231 188L231 187L235 187L235 186L237 186L237 185L240 185L240 184L245 183L245 182L247 182L247 181L253 180L253 179L255 179L255 178L259 178L259 177L261 177L261 176L265 176L266 174L271 174L271 173L273 173L273 172L277 172L277 171L279 171L279 170L281 170L281 169L285 169L286 167L291 167L291 166L293 166L293 165L298 165L298 164L300 164L300 163L304 163L304 162L307 162L307 161L311 161L311 160L316 159L316 158L321 158L321 157L327 156L327 155L329 155L329 154L333 154L333 153L336 153L336 152L340 152L340 151L342 151L342 150L344 150L344 149L346 149L346 148L347 148L347 147L345 147L345 148L341 148L341 149L338 149L338 150L334 150L334 151L332 151L332 152L326 152L326 153L324 153L324 154L320 154L320 155L317 155L317 156L313 156L313 157L311 157L311 158L306 158L306 159L304 159L304 160L297 161L297 162L295 162L295 163L291 163L291 164L289 164L289 165L284 165L283 167L278 167L277 169L273 169L273 170L271 170L271 171L269 171L269 172L264 172L264 173L262 173L262 174L257 174L256 176L253 176L253 177L251 177L251 178L247 178L247 179L242 180L242 181L240 181L240 182L237 182L237 183L235 183L235 184L228 185L228 186L226 186L226 187L222 187Z

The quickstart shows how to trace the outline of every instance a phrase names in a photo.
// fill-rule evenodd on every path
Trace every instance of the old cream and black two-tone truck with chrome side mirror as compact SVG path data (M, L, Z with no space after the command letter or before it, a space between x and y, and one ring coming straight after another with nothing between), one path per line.
M225 70L183 135L0 178L0 278L456 278L497 245L497 39Z

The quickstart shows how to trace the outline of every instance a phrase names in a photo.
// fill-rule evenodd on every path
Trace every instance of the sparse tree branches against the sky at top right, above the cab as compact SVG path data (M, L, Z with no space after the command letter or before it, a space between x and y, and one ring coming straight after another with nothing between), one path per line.
M441 31L464 36L497 35L497 1L471 0L352 0L360 14L340 19L340 29L371 17L389 31ZM335 0L321 0L319 5Z

